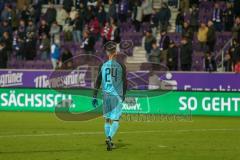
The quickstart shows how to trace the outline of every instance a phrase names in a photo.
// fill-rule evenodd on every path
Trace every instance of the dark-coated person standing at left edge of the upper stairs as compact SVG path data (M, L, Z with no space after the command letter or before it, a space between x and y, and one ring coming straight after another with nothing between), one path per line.
M171 11L166 3L163 3L159 11L160 30L167 30L169 20L171 18Z

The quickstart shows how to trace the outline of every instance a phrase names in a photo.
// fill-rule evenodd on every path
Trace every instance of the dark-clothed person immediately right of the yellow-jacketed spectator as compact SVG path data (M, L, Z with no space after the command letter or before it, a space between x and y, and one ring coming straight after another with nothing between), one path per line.
M212 21L208 21L208 32L207 32L207 46L209 52L214 52L214 47L216 43L216 33Z

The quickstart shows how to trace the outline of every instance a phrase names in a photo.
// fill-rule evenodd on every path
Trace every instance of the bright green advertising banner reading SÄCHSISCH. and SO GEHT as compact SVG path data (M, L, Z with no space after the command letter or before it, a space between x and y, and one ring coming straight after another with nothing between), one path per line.
M0 89L1 111L54 112L64 103L71 112L93 110L92 90ZM99 95L100 107L102 104ZM238 92L129 91L123 112L240 116Z

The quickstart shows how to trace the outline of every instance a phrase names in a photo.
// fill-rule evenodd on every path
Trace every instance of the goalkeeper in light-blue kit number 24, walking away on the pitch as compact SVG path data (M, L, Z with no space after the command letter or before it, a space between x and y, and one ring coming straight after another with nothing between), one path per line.
M102 85L104 129L108 151L115 147L112 139L119 127L122 104L127 89L126 67L116 60L116 46L114 42L108 42L105 45L108 61L99 67L92 101L93 106L97 107L98 89Z

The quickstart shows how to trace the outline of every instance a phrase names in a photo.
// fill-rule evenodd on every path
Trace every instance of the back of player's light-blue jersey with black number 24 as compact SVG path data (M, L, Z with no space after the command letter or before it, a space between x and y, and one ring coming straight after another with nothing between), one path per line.
M123 95L123 67L116 60L108 60L101 67L102 89L110 95Z

